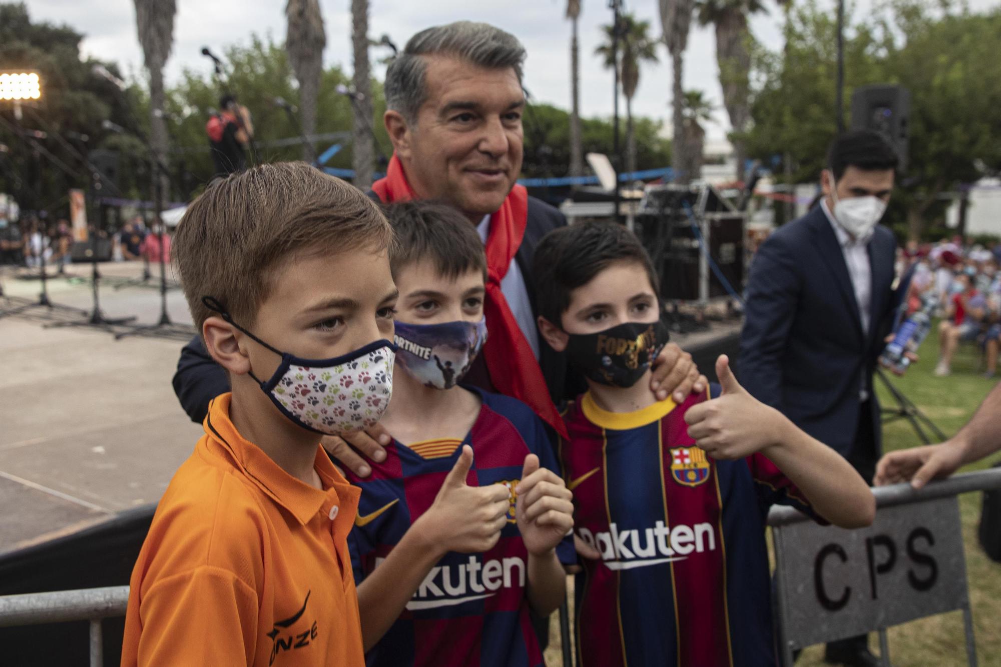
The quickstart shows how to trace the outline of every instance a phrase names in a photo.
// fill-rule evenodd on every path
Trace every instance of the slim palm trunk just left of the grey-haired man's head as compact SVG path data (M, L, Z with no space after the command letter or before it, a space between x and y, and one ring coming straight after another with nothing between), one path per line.
M354 123L351 127L351 164L354 185L367 190L372 184L375 146L372 136L372 91L368 66L368 0L351 0L351 43L354 47Z

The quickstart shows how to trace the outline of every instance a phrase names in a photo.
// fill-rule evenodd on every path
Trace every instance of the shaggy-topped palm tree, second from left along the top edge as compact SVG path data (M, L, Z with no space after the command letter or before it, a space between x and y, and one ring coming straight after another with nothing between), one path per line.
M288 0L285 5L288 21L285 32L285 50L288 61L299 82L299 108L302 116L302 133L308 138L316 131L316 98L323 74L323 48L326 32L318 0ZM312 161L312 144L302 144L302 159Z

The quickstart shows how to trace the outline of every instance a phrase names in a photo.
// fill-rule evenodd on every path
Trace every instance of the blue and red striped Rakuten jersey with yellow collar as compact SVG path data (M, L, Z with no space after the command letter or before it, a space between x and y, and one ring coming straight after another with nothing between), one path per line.
M623 414L585 394L565 415L576 531L602 554L577 577L582 667L776 664L768 509L809 506L764 456L695 446L683 416L705 400Z

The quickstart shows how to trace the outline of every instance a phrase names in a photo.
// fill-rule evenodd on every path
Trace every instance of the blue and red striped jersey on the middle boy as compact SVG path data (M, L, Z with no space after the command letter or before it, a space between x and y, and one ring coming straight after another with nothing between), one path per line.
M525 667L545 664L529 617L529 555L515 523L515 493L525 457L560 473L543 422L522 402L474 391L482 402L464 440L404 445L393 441L367 478L347 474L361 488L358 517L348 536L357 584L372 572L434 502L441 483L472 447L469 485L502 483L512 491L508 526L486 553L446 554L424 578L406 609L368 652L369 666ZM577 556L568 537L560 560Z

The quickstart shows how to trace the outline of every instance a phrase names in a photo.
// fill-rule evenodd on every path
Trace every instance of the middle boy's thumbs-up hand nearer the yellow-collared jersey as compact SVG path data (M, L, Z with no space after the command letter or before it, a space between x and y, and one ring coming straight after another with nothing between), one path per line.
M525 548L533 556L545 556L574 528L574 495L559 475L540 467L535 454L525 457L515 493L515 517Z

